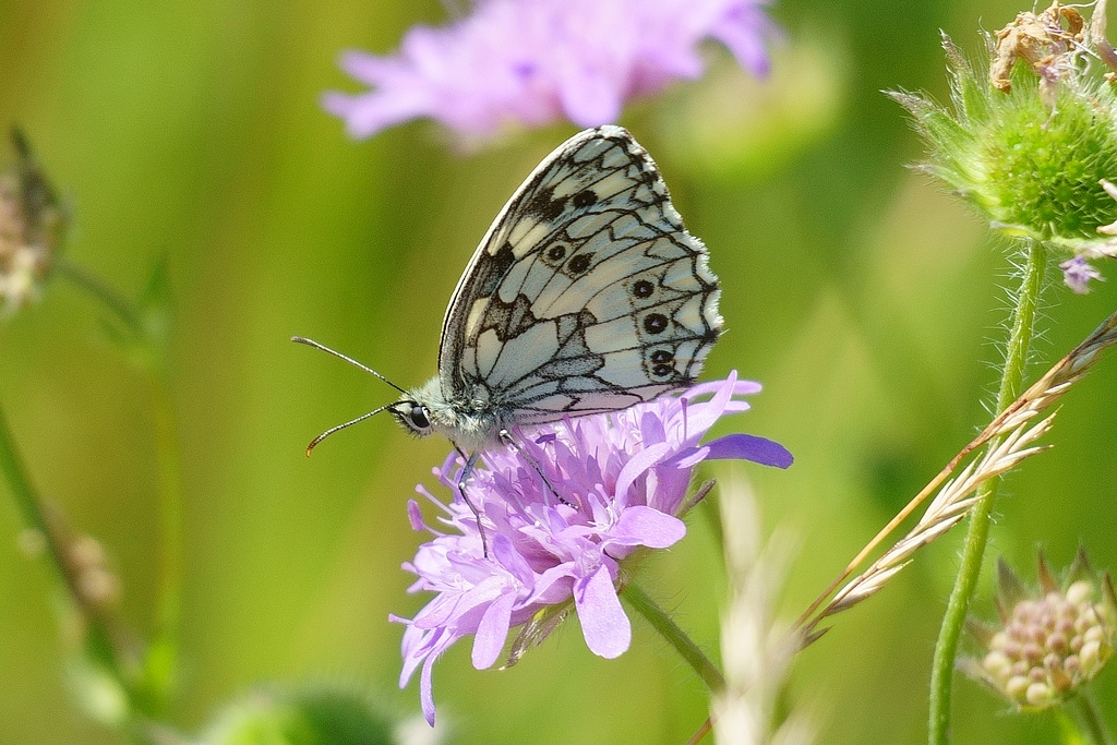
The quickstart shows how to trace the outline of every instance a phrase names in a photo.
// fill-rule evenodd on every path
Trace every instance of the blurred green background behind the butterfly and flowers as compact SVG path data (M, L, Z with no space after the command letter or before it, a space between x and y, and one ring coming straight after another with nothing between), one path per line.
M724 50L710 73L627 109L693 232L710 247L731 329L708 376L764 383L724 427L771 437L787 472L748 469L766 531L800 541L794 617L986 420L1005 292L1004 246L906 164L920 145L886 88L945 98L944 29L968 49L1025 9L1001 0L781 1L774 75ZM472 248L535 163L574 132L471 153L428 123L349 141L318 107L353 89L340 50L386 51L445 10L421 2L0 0L0 123L20 123L74 206L71 259L136 296L166 257L176 306L173 394L185 489L183 670L172 719L197 732L260 681L395 690L402 627L423 596L400 571L422 536L404 502L445 442L378 418L323 429L392 391L288 342L303 334L401 384L432 374L446 300ZM1114 275L1111 267L1104 271ZM1117 306L1117 281L1073 296L1052 277L1034 376ZM160 536L143 376L66 283L0 326L0 402L41 490L103 541L122 612L153 622ZM1011 476L991 555L1033 574L1034 550L1079 544L1117 565L1117 361L1067 399L1053 451ZM66 691L51 575L17 548L0 485L0 743L120 743ZM643 585L716 649L724 574L708 522ZM840 617L798 660L794 700L824 743L920 743L937 624L961 532ZM991 617L990 588L978 609ZM1005 716L956 686L957 743L1046 743L1046 716ZM1100 679L1117 725L1117 674ZM507 671L469 643L436 667L439 714L464 743L684 742L706 716L698 680L642 621L629 653L593 657L567 625Z

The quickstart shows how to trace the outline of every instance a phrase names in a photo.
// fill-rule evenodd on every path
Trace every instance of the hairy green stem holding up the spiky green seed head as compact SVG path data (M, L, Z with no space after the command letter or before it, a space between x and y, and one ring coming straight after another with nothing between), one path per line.
M1027 250L1023 277L1020 289L1016 292L1016 306L1012 313L1012 328L1005 348L1001 386L996 395L996 411L1002 411L1020 395L1024 366L1028 361L1028 347L1031 345L1034 334L1035 311L1043 285L1046 260L1047 249L1043 243L1032 241ZM1002 439L996 438L991 441L989 449L999 447ZM954 580L954 589L951 591L943 624L938 631L930 672L930 711L927 733L927 742L930 745L945 745L949 742L951 691L954 685L958 639L962 636L966 613L970 610L970 599L973 596L974 588L977 586L977 579L981 575L985 545L989 542L990 516L993 512L999 486L1000 478L993 478L985 481L977 491L977 503L970 513L970 527L962 551L962 564Z

